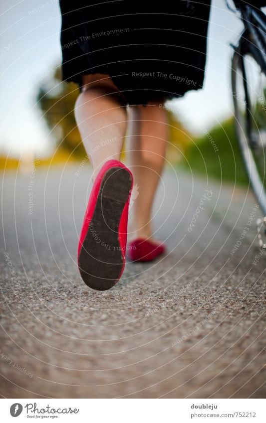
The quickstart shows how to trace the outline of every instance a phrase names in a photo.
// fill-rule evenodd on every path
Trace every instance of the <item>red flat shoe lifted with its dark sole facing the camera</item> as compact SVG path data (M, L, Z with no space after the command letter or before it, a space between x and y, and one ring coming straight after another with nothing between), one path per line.
M93 289L110 289L122 276L132 186L132 173L118 160L108 160L95 178L78 243L79 272Z

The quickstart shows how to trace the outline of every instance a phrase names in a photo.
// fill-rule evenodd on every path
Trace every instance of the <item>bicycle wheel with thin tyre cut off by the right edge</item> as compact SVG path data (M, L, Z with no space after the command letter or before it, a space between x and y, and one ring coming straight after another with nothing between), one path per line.
M242 38L232 59L236 133L244 165L266 215L266 74L256 46Z

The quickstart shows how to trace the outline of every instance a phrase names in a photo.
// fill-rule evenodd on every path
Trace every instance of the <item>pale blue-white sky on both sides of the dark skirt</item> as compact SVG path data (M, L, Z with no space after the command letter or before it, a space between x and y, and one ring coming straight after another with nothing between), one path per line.
M35 104L40 81L61 61L58 0L1 0L0 154L47 154L48 130ZM242 29L224 0L213 0L204 88L167 104L195 134L232 114L230 62Z

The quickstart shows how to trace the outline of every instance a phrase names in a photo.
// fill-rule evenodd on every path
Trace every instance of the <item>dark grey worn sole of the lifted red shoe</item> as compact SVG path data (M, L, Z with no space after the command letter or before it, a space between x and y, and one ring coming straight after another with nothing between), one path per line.
M125 266L118 229L130 194L132 175L112 167L103 176L95 209L79 253L78 267L90 288L110 289Z

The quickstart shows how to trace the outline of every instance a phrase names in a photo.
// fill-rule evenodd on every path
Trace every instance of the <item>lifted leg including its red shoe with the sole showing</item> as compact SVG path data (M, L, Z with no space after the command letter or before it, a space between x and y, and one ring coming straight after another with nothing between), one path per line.
M78 244L78 267L83 281L100 290L111 288L125 266L132 174L117 161L127 123L125 104L109 78L91 75L84 77L75 105L78 129L94 170Z

